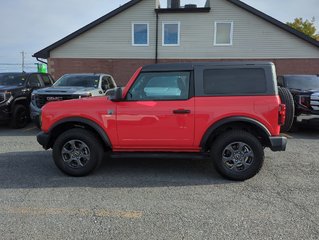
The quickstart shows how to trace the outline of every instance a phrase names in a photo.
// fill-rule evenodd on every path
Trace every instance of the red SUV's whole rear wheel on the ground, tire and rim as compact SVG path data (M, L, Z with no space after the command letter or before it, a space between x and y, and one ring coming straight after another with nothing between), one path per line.
M211 147L217 171L224 177L243 181L255 176L264 162L264 149L252 134L231 130L220 135Z

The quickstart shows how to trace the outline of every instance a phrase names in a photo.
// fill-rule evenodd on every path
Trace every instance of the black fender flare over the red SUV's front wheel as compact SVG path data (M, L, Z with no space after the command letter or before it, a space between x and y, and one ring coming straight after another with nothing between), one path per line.
M89 120L87 118L81 118L81 117L70 117L70 118L64 118L56 123L54 123L50 128L49 128L49 133L52 134L54 133L54 129L58 128L61 125L67 124L67 123L75 123L75 124L84 124L89 127L91 127L102 139L105 145L109 146L112 148L112 143L110 141L110 138L106 134L106 132L103 130L103 128L95 123L92 120Z

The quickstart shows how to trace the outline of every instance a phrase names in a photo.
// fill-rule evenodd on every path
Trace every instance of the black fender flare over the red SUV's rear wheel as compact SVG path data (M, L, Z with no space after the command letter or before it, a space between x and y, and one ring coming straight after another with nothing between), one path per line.
M265 136L270 137L271 133L270 131L265 127L265 125L263 125L262 123L260 123L259 121L252 119L252 118L248 118L248 117L242 117L242 116L237 116L237 117L228 117L228 118L224 118L222 120L217 121L216 123L212 124L205 132L204 136L202 137L202 140L200 142L200 146L202 148L205 148L207 141L209 140L211 134L218 129L219 127L229 124L229 123L248 123L251 125L254 125L255 127L257 127L257 129L261 130Z

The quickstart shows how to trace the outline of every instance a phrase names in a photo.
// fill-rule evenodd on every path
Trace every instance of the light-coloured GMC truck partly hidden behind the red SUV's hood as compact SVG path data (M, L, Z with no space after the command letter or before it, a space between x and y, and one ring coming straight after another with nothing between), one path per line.
M47 102L103 96L107 90L115 87L116 83L109 74L65 74L52 87L32 92L32 101L30 103L31 119L39 125L41 108Z

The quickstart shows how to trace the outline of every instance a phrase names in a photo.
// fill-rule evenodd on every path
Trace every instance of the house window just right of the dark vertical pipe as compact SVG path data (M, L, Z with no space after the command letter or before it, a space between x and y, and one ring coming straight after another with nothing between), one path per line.
M179 46L180 22L163 22L162 36L163 46Z

